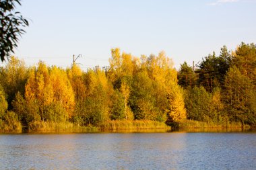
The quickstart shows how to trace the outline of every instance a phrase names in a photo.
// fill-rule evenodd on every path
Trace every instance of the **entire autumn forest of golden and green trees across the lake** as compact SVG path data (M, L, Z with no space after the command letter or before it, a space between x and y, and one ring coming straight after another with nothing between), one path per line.
M150 121L256 124L256 46L226 46L179 70L164 52L140 57L111 50L109 67L82 71L11 56L0 68L0 130L63 123L99 127Z

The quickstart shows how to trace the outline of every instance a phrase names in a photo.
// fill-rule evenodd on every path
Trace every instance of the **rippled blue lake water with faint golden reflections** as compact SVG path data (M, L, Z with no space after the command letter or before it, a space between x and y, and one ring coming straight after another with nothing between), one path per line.
M0 134L0 169L256 169L256 133Z

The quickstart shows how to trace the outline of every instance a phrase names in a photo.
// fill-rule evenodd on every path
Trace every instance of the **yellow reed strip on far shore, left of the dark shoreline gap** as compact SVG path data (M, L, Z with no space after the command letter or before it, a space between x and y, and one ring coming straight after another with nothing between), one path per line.
M71 122L30 122L22 128L0 128L0 132L167 132L171 130L163 122L150 120L109 120L98 126L81 126Z

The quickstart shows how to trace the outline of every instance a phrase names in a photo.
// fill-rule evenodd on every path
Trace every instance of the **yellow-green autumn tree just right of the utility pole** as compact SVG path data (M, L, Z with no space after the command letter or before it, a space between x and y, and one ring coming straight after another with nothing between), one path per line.
M100 69L90 69L84 81L86 97L78 105L79 108L76 108L75 121L96 126L109 118L113 87L106 79L104 71Z

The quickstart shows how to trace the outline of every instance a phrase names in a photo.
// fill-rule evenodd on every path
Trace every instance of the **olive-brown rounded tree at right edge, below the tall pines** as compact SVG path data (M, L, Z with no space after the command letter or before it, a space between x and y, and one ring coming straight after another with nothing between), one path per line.
M249 77L230 67L224 83L226 113L232 122L255 124L255 90Z

